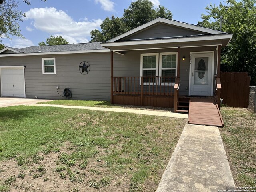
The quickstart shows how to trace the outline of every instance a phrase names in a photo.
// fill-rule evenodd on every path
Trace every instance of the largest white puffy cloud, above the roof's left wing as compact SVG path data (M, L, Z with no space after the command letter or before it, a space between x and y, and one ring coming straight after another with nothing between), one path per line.
M89 21L86 18L76 22L66 12L54 7L30 9L26 12L24 19L33 20L32 25L38 30L68 37L71 43L87 40L86 37L90 37L90 31L99 28L102 23L101 19Z

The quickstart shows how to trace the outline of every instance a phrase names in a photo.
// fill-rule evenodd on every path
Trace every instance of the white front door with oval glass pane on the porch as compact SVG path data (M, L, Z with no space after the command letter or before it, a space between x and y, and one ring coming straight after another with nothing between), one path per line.
M212 96L213 52L191 54L189 95Z

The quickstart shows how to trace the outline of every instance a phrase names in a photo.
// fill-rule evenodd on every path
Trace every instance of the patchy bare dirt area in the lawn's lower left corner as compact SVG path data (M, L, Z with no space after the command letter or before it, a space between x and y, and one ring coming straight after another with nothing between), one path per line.
M106 162L90 159L88 162L76 161L62 163L62 154L72 154L71 144L66 142L59 152L38 154L36 163L30 158L27 164L18 166L10 159L0 165L2 186L8 186L12 192L78 192L78 191L129 191L130 177L125 174L112 180ZM8 191L6 190L6 191Z

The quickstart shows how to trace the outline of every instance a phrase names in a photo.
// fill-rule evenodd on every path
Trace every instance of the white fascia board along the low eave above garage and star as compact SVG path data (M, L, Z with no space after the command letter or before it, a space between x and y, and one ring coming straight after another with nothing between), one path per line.
M16 54L0 54L0 57L12 57L12 56L31 56L31 55L59 55L59 54L76 54L76 53L99 53L110 52L109 49L102 50L81 50L81 51L58 51L58 52L38 52L38 53L16 53Z

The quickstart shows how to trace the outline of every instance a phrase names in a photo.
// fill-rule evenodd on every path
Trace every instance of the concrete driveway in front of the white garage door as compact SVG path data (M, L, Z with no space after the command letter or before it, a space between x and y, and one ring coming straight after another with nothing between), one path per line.
M28 99L28 98L15 98L15 97L0 97L0 107L9 107L15 105L31 105L38 102L51 101L47 99Z

